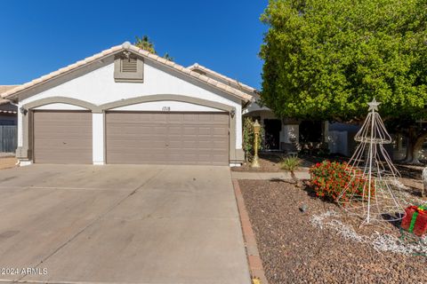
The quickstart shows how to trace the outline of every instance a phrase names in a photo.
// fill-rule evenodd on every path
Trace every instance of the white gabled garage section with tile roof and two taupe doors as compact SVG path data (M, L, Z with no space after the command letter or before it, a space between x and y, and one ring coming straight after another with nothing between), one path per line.
M123 43L3 94L21 164L237 165L254 88Z

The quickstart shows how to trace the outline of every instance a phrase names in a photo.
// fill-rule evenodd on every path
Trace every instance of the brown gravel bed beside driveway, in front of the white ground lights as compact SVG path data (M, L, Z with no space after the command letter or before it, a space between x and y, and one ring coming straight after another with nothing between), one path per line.
M270 284L427 281L425 256L380 253L311 225L313 214L339 208L315 198L307 187L268 180L240 180L239 185ZM302 204L308 206L304 213Z

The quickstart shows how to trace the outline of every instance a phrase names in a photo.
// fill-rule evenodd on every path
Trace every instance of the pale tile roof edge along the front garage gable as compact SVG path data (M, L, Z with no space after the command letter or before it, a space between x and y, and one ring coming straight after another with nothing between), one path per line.
M45 83L46 81L49 81L49 80L56 78L60 75L67 74L68 72L73 71L73 70L77 69L78 67L84 67L85 65L90 64L93 61L106 58L112 54L115 54L119 51L124 51L124 50L134 51L136 54L139 54L144 58L152 59L154 61L163 63L167 67L171 67L174 70L180 71L183 74L186 74L186 75L189 75L193 78L196 78L197 80L199 80L203 83L206 83L208 85L211 85L216 89L219 89L221 91L225 91L225 92L237 97L238 99L249 101L249 100L252 100L252 98L253 98L251 95L247 94L244 91L240 91L236 88L233 88L228 84L218 82L218 81L216 81L212 78L209 78L205 75L200 75L199 73L192 71L189 68L182 67L181 65L176 64L173 61L166 60L166 59L164 59L164 58L162 58L156 54L150 53L149 51L141 50L140 48L138 48L138 47L136 47L133 44L128 43L128 42L117 45L117 46L113 46L113 47L109 48L108 50L101 51L100 53L97 53L91 57L77 61L74 64L68 65L68 67L60 68L59 70L54 71L48 75L41 76L41 77L31 81L31 82L24 83L24 84L22 84L16 88L13 88L12 90L5 91L3 94L1 94L1 97L2 98L12 98L12 96L17 95L20 91L24 91L24 90L27 90L31 87L35 87L36 85Z

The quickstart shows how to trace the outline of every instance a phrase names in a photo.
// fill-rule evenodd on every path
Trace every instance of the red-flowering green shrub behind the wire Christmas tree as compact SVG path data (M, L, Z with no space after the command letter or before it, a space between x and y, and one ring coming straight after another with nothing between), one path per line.
M364 190L367 198L367 183L362 178L360 170L350 170L346 162L318 162L310 168L311 185L317 196L324 196L336 201L342 190L348 186L342 194L341 201L349 201L349 195L359 196L361 201ZM375 196L374 182L371 183L371 197Z

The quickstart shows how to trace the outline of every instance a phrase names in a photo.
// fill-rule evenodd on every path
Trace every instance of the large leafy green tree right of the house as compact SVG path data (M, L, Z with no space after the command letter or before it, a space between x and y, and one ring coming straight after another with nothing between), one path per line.
M263 104L280 117L360 122L376 98L385 121L411 137L407 160L418 162L427 0L270 0L262 21Z

